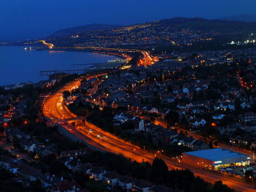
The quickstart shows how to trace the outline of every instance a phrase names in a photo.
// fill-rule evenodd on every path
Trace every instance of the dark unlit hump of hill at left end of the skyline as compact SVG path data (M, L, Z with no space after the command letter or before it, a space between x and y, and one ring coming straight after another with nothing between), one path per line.
M106 30L111 28L118 28L121 27L120 25L104 25L104 24L90 24L87 26L77 26L73 28L65 28L61 29L59 31L56 31L54 34L50 35L50 38L52 37L67 37L75 34L83 34L86 31L91 30Z

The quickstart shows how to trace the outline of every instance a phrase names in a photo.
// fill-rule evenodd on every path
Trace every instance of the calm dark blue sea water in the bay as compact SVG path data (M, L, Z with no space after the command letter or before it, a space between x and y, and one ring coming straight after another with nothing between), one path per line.
M0 46L0 85L18 82L38 82L47 77L40 77L40 71L61 69L84 69L86 66L73 64L104 63L115 56L97 53L56 52L23 50L23 47Z

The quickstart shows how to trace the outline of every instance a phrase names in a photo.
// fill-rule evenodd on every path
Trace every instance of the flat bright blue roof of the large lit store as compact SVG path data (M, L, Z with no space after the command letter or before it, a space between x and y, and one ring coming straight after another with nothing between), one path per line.
M238 157L247 157L243 153L238 153L233 150L226 150L223 148L214 148L211 150L197 150L192 152L186 152L184 154L193 155L200 158L206 158L211 161L219 161L227 158L238 158ZM249 156L248 156L249 157Z

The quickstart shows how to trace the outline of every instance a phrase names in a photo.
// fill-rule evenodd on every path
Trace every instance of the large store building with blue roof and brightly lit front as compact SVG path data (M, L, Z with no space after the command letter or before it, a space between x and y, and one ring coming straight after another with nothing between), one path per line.
M243 153L237 153L223 148L211 150L197 150L182 153L182 161L193 166L207 169L219 169L231 165L245 166L249 164L250 157Z

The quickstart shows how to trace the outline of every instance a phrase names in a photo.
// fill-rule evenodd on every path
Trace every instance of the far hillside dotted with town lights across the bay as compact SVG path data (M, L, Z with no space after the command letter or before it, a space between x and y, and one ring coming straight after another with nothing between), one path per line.
M79 34L78 37L73 36ZM203 18L170 18L131 26L92 24L67 28L48 37L59 47L130 47L151 48L191 45L227 45L244 41L256 34L256 23L238 20L207 20Z

